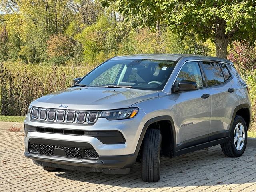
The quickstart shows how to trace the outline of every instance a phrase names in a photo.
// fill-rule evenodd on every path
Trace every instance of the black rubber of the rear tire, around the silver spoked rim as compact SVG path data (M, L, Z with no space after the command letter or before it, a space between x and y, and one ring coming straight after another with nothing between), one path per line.
M243 146L240 148L240 150L237 149L238 144L236 142L234 142L234 136L236 133L236 126L239 124L242 124L242 126L244 127L244 143ZM228 157L240 157L243 153L244 150L246 148L246 144L247 144L247 126L246 126L246 122L244 121L244 118L242 118L241 116L236 116L234 119L234 123L231 129L231 133L230 133L230 139L228 142L221 144L221 149L222 152L228 156Z

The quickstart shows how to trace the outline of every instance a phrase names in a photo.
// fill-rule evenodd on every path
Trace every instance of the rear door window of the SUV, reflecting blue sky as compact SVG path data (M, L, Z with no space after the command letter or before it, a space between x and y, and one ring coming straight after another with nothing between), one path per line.
M202 62L207 85L216 85L225 81L220 65L216 62Z

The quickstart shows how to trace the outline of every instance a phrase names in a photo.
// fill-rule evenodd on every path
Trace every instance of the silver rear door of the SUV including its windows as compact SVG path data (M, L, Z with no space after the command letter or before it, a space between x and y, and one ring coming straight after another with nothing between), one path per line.
M218 62L203 61L202 68L212 98L209 140L229 136L234 106L239 102L230 82L230 72L226 64Z

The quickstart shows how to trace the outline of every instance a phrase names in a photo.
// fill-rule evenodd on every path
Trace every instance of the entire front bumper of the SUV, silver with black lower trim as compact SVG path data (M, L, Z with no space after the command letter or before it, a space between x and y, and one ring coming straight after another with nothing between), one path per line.
M35 164L52 166L56 168L64 168L71 170L86 170L93 172L104 172L108 174L125 174L128 173L130 167L136 161L139 148L137 147L138 140L142 128L144 126L143 112L139 112L134 118L127 120L109 121L105 118L99 118L93 125L73 125L73 124L54 124L45 122L30 121L27 115L24 121L25 125L25 156L31 158ZM26 127L29 127L26 128ZM34 130L30 130L34 127ZM45 130L45 132L40 132ZM50 133L47 130L54 129ZM63 130L62 134L55 132ZM27 131L26 131L27 130ZM65 130L79 130L86 132L84 135L64 134ZM120 132L124 138L124 143L120 144L104 144L105 140L97 138L97 136L88 136L88 132ZM48 140L50 143L31 142L32 140ZM55 143L52 143L55 142ZM109 142L109 141L107 141ZM58 156L55 153L35 154L29 151L31 143L47 144L54 146L80 147L91 146L98 154L97 159L88 158L71 158L67 156ZM79 146L76 144L79 143ZM70 144L70 146L68 146ZM74 146L73 146L74 144Z

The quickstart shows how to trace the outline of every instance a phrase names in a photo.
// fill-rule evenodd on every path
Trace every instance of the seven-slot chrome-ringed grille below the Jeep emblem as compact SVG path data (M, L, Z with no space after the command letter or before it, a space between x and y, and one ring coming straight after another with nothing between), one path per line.
M94 124L98 118L98 111L75 111L75 110L55 110L46 108L33 108L32 120L44 122L66 122L77 124Z

